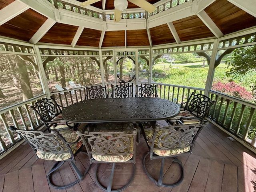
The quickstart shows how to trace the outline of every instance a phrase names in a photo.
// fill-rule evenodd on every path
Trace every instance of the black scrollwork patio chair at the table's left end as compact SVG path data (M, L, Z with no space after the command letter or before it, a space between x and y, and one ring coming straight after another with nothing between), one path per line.
M78 128L80 124L67 122L62 118L62 110L61 108L65 108L64 106L60 106L56 100L51 96L50 99L42 98L38 100L31 108L38 114L42 122L46 128L50 126L50 124L56 123L58 126L56 128L74 128L75 130Z

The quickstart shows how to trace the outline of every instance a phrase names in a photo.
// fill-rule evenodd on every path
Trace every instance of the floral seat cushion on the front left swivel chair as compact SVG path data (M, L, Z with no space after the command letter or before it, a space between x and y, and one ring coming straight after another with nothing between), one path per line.
M66 139L67 142L76 142L78 140L78 136L75 131L61 130L60 134ZM71 158L71 154L70 152L68 152L68 148L66 147L64 142L60 140L58 137L56 137L56 140L58 140L60 146L64 148L64 152L52 153L52 152L37 150L36 155L38 156L38 158L44 159L44 160L55 160L55 161L64 161ZM70 145L70 148L73 154L75 154L81 146L82 146L81 140L76 142L75 144Z

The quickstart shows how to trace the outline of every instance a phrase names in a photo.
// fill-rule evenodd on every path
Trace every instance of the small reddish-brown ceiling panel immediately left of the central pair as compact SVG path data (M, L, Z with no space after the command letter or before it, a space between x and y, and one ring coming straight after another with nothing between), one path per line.
M98 47L100 43L101 31L84 28L76 45Z

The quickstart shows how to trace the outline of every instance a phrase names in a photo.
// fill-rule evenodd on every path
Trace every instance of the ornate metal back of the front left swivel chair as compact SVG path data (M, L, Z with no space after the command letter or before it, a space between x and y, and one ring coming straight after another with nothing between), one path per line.
M42 131L19 130L14 126L9 129L24 138L35 153L38 150L54 154L70 153L73 157L70 146L57 130L52 130L51 133L44 133Z

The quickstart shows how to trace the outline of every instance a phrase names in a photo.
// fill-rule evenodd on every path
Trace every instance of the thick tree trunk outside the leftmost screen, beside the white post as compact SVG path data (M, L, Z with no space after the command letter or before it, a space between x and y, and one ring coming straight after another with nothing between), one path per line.
M15 56L15 60L16 60L16 65L19 71L20 88L22 90L23 100L28 100L30 98L33 98L33 93L31 89L29 77L28 77L28 70L26 68L26 63L18 56Z

